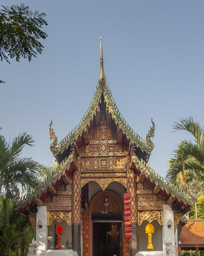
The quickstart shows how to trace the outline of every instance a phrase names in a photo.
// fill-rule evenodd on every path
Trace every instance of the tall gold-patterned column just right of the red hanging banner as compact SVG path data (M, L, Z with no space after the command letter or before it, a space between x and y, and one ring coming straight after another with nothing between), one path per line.
M129 255L135 256L138 252L138 237L136 235L136 224L138 222L138 207L137 207L137 194L136 194L136 174L129 168L129 160L127 164L127 183L128 192L130 193L131 202L131 224L132 224L132 238L129 239Z

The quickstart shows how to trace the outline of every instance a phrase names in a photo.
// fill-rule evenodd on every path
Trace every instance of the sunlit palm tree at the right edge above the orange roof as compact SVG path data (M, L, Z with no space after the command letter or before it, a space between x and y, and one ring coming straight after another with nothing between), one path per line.
M182 140L175 155L169 161L169 170L166 179L174 184L195 185L198 180L204 181L204 132L193 117L180 118L173 125L175 131L187 131L193 135L194 140Z

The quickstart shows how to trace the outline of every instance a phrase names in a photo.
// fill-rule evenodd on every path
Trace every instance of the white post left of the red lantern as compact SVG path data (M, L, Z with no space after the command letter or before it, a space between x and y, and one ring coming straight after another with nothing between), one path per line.
M40 225L40 226L39 226ZM36 241L39 243L38 250L47 250L47 207L38 206L36 214Z

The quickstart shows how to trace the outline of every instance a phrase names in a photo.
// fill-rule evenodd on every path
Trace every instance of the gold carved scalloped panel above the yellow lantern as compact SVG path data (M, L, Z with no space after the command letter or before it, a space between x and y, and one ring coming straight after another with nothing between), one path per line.
M138 225L141 225L144 220L151 223L154 220L157 220L160 225L163 225L163 211L143 211L138 212Z

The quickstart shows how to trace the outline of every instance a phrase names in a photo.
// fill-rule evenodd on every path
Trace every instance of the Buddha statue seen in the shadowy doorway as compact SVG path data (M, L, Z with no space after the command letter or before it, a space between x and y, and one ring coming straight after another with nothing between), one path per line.
M107 256L119 256L120 254L120 230L117 223L111 224L111 230L106 233Z

